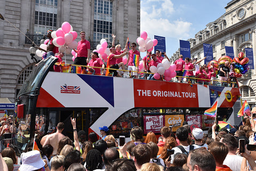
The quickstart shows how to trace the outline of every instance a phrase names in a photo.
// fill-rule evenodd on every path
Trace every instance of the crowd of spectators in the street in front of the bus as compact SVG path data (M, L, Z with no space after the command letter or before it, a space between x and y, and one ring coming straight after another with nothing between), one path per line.
M9 144L1 151L0 168L4 171L256 170L256 152L246 148L247 144L256 144L255 119L253 115L245 116L240 126L230 129L213 124L208 131L184 121L175 133L164 126L160 135L149 132L146 137L141 127L134 126L130 141L120 146L118 139L108 135L107 126L99 127L101 139L91 132L86 141L86 133L77 131L76 119L70 118L74 141L62 134L65 125L58 123L55 133L43 133L44 136L27 143L20 162ZM42 118L39 121L41 125ZM238 145L240 140L246 145Z

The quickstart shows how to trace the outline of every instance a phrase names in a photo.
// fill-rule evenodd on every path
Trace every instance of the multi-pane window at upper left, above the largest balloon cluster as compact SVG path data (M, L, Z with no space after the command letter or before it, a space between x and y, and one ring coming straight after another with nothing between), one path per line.
M34 34L43 35L57 28L58 0L36 0Z

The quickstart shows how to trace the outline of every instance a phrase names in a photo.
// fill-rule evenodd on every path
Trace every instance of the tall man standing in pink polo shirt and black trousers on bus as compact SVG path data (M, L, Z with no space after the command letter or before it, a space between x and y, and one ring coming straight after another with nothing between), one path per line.
M87 66L90 57L90 42L85 39L85 32L80 32L81 41L78 42L77 50L73 49L77 53L74 64ZM85 68L86 69L86 68Z

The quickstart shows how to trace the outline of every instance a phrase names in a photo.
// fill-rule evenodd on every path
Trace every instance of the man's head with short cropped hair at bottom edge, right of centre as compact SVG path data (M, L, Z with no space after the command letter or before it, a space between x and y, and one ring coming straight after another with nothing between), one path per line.
M199 148L189 152L187 166L189 171L215 171L216 164L212 154L206 149Z

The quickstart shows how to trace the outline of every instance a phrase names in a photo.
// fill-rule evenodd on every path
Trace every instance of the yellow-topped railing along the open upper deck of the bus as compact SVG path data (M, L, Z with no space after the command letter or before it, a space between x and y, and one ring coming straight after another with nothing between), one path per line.
M123 71L126 73L129 73L129 77L131 77L131 72L137 72L138 74L154 74L152 72L142 72L142 71L131 71L131 70L123 70L123 69L115 69L115 68L102 68L102 67L92 67L92 66L81 66L81 65L77 65L77 64L60 64L62 69L62 72L71 72L71 73L76 73L76 74L89 74L89 75L94 75L94 71L91 72L89 70L85 70L82 67L86 67L86 68L98 68L101 69L101 73L104 70L117 70L117 71ZM74 67L78 67L78 68L74 68ZM76 69L76 71L74 71L74 69ZM97 74L99 75L99 74ZM105 74L100 74L102 76L105 76ZM113 75L112 75L113 76ZM236 82L228 82L228 81L222 81L222 80L212 80L212 79L203 79L203 78L196 78L196 77L183 77L183 76L175 76L175 77L181 77L182 80L184 78L186 78L186 82L183 83L190 83L190 84L207 84L207 85L212 85L212 82L217 82L215 85L217 86L232 86L233 84L235 85L235 87L237 87L237 83ZM159 80L163 80L163 77L161 77L161 79ZM175 80L171 80L170 82L177 82Z

